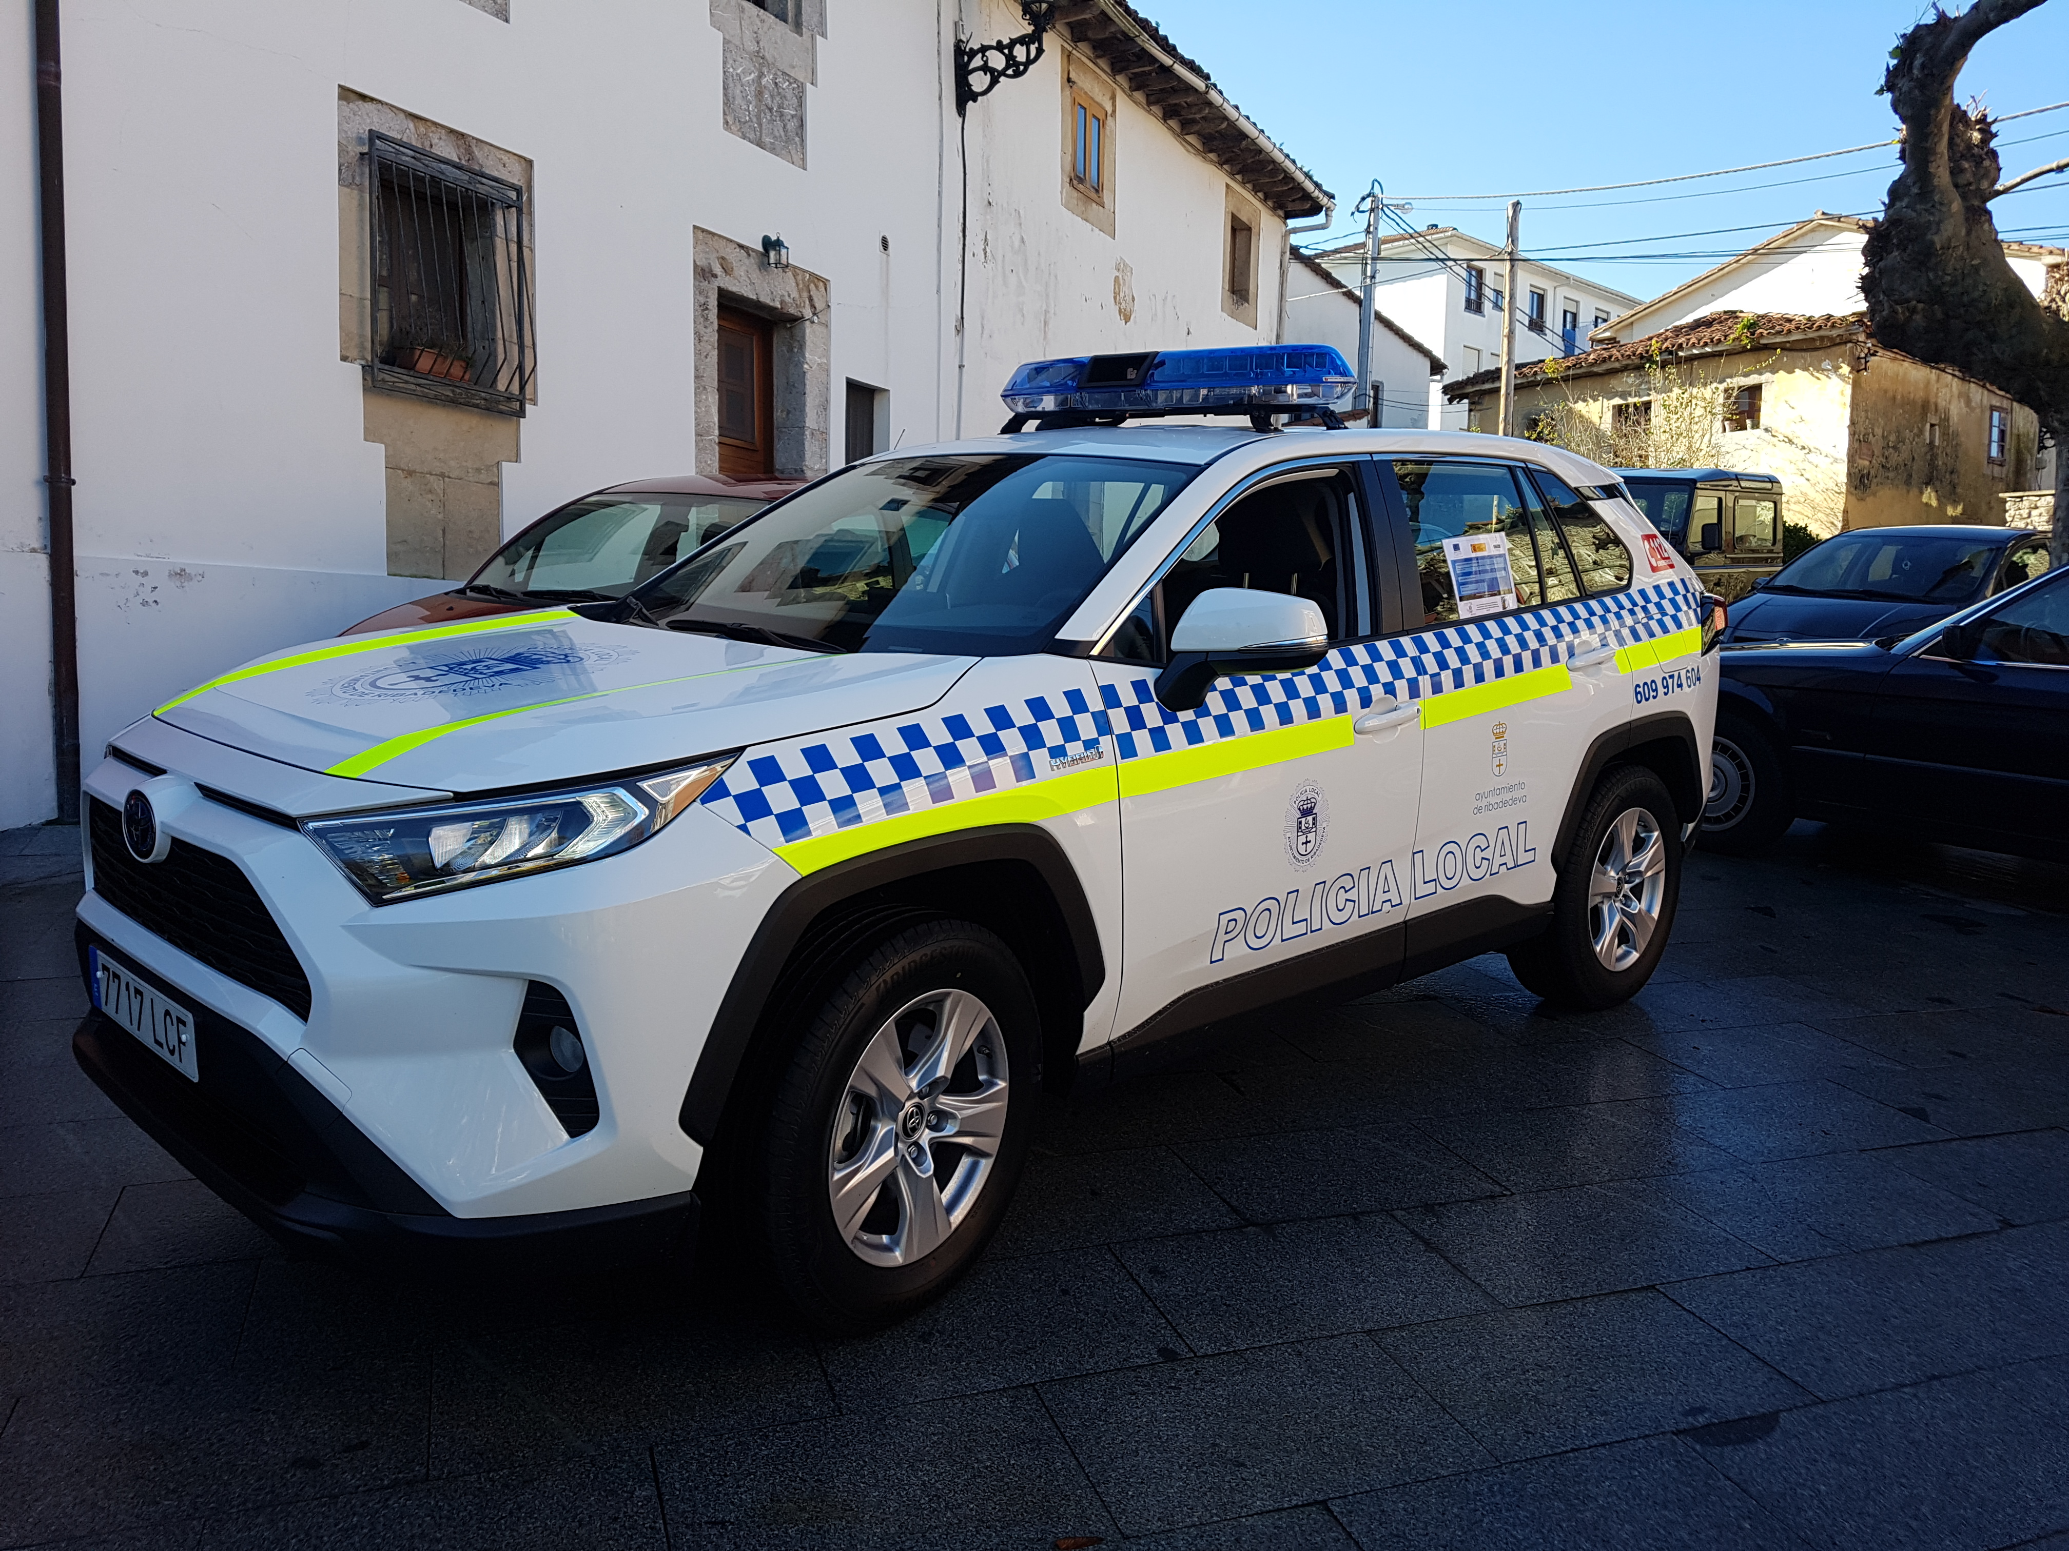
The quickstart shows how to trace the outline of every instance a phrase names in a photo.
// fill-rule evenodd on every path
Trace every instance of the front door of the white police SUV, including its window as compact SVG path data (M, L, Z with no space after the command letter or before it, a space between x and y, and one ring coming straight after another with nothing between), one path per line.
M1121 776L1123 1046L1399 968L1423 734L1372 641L1368 480L1335 459L1241 486L1092 664ZM1165 645L1210 587L1314 604L1328 656L1167 709Z

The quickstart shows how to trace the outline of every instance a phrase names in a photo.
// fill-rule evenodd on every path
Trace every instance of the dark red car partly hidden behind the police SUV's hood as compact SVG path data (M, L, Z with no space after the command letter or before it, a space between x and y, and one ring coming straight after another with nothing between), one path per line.
M701 474L612 484L540 517L490 554L463 587L385 608L339 635L623 598L801 484Z

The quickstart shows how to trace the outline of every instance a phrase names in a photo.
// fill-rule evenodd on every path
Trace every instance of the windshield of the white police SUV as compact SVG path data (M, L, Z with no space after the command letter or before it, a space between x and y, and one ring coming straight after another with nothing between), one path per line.
M648 622L826 651L1041 651L1192 463L985 453L844 469L637 594Z

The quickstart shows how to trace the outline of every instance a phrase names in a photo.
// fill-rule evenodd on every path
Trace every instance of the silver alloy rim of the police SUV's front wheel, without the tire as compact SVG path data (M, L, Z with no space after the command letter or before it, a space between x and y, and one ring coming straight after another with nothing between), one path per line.
M968 991L929 991L883 1022L828 1139L828 1204L850 1251L910 1266L962 1226L999 1154L1008 1079L999 1024Z

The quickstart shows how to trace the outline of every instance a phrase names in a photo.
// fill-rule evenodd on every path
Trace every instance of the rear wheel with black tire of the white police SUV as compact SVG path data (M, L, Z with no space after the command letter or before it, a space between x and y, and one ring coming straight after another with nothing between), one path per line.
M1552 891L1552 924L1508 949L1527 991L1560 1007L1616 1007L1653 976L1680 904L1680 819L1641 765L1603 773Z

